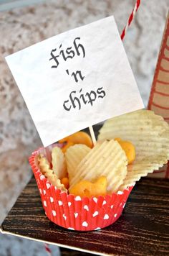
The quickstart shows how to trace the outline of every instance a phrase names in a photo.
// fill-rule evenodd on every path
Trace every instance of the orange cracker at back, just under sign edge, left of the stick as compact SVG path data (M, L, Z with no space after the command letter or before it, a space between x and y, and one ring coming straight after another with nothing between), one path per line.
M72 142L74 144L84 144L87 145L87 147L93 147L92 139L89 134L86 132L75 132L74 134L71 134L67 137L65 137L62 140L59 140L59 143L63 142Z

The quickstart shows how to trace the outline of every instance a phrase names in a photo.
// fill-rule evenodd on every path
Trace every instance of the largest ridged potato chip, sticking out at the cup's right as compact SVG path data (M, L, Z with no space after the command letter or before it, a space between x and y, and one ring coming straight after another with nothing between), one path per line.
M135 161L128 165L120 190L168 162L169 126L153 111L142 109L107 120L100 129L98 140L115 137L132 142L136 151Z

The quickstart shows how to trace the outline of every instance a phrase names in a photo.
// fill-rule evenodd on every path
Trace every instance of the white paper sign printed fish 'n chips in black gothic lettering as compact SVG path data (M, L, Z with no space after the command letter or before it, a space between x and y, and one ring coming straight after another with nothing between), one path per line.
M113 17L6 57L44 146L143 109Z

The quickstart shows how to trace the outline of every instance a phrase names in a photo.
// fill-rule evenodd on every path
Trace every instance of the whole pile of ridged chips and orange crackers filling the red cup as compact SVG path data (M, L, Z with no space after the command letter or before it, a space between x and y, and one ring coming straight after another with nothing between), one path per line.
M169 159L169 126L153 111L139 110L107 120L95 147L89 135L79 133L62 140L67 142L63 149L52 149L51 164L44 155L37 159L49 182L62 191L69 188L74 195L122 191Z

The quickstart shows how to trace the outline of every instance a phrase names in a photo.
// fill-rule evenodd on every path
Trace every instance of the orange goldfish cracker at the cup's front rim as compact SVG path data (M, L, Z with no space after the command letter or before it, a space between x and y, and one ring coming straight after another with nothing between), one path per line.
M107 193L107 178L101 176L94 183L88 180L81 180L69 189L69 193L82 198L84 196L105 196Z

